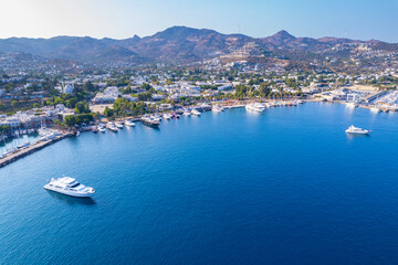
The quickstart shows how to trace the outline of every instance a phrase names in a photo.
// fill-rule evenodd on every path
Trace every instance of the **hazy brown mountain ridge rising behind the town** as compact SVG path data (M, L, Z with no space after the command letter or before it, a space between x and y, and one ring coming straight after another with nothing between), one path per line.
M48 60L64 59L83 62L160 61L197 62L244 51L322 52L336 45L368 43L398 50L398 44L378 40L359 41L346 38L296 38L285 30L271 36L252 38L244 34L223 34L210 29L176 25L153 35L127 39L59 35L44 38L0 39L0 52L23 52ZM250 47L250 49L248 49ZM249 52L248 52L249 51Z

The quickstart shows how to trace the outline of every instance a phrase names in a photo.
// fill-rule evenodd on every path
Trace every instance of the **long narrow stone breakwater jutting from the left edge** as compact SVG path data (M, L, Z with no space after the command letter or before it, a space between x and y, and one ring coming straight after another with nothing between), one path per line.
M54 139L45 140L45 141L38 141L35 144L32 144L31 146L21 148L12 153L4 156L3 158L0 158L0 168L3 168L7 165L10 165L23 157L27 157L35 151L43 149L44 147L51 146L51 145L53 145L62 139L65 139L67 137L71 137L71 136L72 136L72 134L63 134L61 136L57 136Z

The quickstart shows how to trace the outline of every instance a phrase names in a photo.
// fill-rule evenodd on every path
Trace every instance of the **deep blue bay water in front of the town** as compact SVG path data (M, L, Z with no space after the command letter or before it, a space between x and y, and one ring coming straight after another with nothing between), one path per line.
M396 264L397 121L314 103L65 139L0 169L0 264ZM43 189L62 173L96 194Z

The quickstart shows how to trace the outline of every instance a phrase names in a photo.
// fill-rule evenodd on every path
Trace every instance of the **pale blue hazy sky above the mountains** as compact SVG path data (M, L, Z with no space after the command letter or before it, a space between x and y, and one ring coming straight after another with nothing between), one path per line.
M0 0L0 38L146 36L172 25L398 42L398 0Z

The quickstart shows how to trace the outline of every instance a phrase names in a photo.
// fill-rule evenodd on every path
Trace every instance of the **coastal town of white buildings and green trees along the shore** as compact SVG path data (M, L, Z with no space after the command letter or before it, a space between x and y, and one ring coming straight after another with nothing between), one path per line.
M336 74L261 68L244 62L222 68L117 68L91 74L52 71L39 78L24 72L2 75L0 132L4 166L82 131L117 131L135 121L157 127L163 118L333 102L373 113L398 109L398 72ZM11 110L10 110L11 109ZM34 141L7 145L24 135Z

